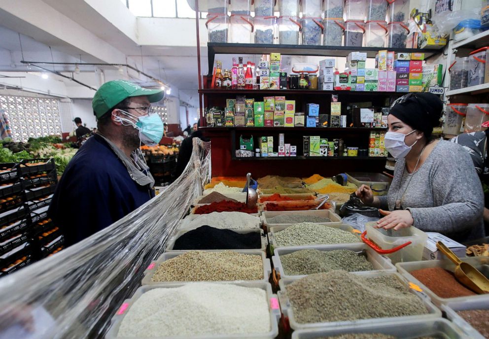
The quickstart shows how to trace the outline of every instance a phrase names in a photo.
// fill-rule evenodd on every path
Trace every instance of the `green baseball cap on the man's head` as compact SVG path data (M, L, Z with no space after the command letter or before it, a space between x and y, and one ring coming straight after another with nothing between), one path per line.
M127 80L108 81L95 92L92 100L95 116L100 118L110 108L129 97L148 97L149 102L159 102L165 97L163 90L148 90Z

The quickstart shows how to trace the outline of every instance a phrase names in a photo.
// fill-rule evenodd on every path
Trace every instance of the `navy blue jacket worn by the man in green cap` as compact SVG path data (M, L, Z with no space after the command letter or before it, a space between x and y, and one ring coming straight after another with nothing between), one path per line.
M70 246L111 225L153 197L149 185L134 181L127 168L98 135L71 159L49 209Z

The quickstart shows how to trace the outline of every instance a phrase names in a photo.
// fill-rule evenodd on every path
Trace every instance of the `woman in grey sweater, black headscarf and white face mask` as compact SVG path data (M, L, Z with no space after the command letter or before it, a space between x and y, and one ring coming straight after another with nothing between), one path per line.
M431 93L409 93L391 105L385 148L397 159L387 196L362 185L356 195L379 207L377 228L415 226L463 242L484 237L484 195L468 153L435 140L443 103Z

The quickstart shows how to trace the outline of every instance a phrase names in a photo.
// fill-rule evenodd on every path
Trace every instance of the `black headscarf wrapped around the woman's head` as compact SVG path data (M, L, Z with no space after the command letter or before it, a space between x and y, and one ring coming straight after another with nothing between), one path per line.
M404 100L403 100L404 99ZM389 114L392 114L414 130L423 132L431 138L433 128L440 125L443 102L432 93L409 93L394 102Z

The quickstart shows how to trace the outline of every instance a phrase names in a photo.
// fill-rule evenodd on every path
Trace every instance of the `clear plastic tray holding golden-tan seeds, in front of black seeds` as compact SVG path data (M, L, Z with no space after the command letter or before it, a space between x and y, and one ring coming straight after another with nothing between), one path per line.
M200 250L202 252L223 252L223 250ZM265 252L260 251L260 250L246 250L246 249L236 249L236 250L226 250L226 251L233 251L241 254L249 254L249 255L259 255L262 258L262 264L263 264L263 279L260 280L234 280L234 281L264 281L268 282L270 278L270 274L272 273L272 267L270 264L270 260L267 259ZM173 252L166 252L163 253L156 259L156 261L151 262L149 264L148 268L146 271L144 271L144 277L142 278L141 285L162 285L162 284L167 284L167 283L177 283L177 282L182 282L182 281L158 281L158 282L153 282L151 281L151 278L153 277L153 274L156 272L158 267L166 260L175 258L181 254L184 254L188 251L173 251ZM209 282L220 282L220 281L209 281Z

